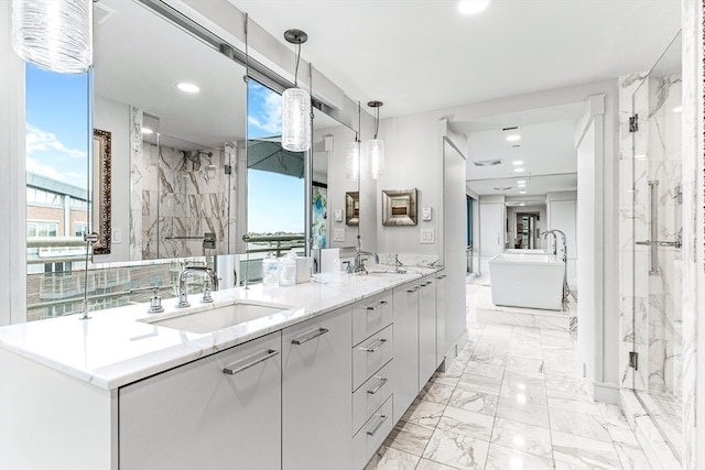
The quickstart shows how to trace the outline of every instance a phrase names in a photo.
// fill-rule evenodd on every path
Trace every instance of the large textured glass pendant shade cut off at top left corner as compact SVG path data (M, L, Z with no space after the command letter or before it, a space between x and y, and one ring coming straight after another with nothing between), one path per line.
M93 65L93 0L12 0L12 47L42 68L87 72Z

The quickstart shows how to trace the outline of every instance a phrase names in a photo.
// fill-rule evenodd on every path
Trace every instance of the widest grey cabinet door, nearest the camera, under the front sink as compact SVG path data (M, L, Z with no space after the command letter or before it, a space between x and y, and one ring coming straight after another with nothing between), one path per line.
M120 469L280 469L281 334L119 391Z

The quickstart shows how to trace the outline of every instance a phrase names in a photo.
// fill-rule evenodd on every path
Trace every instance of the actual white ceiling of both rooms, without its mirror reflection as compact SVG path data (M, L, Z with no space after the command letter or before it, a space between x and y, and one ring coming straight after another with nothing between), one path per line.
M455 0L229 0L285 44L306 31L302 56L354 100L384 102L382 119L650 69L680 29L679 0L494 0L474 17ZM577 188L575 123L584 105L454 122L468 136L468 188L519 197ZM502 128L520 127L520 147ZM501 178L501 179L497 179ZM495 187L511 186L497 192Z

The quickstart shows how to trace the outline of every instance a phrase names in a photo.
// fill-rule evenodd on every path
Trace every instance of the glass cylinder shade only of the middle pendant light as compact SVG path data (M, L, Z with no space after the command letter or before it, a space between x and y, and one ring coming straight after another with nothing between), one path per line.
M291 152L311 149L311 95L301 88L282 94L282 147Z

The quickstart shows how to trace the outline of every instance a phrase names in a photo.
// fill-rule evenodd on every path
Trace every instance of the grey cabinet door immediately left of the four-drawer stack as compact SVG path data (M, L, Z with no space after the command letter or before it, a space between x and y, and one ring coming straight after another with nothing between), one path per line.
M286 470L352 464L351 309L282 331L282 459Z

